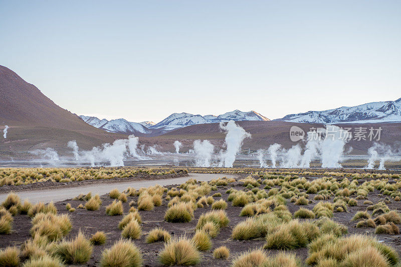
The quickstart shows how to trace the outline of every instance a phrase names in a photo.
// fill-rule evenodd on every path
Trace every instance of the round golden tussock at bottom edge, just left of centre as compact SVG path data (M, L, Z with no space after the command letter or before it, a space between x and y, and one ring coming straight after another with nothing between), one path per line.
M163 265L195 265L200 261L199 251L195 243L184 236L173 237L164 244L159 253L159 261Z

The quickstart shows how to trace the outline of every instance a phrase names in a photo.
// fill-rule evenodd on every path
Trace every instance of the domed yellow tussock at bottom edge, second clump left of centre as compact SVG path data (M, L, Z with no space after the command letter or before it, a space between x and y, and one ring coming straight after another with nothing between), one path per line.
M115 242L109 249L102 252L100 266L102 267L116 267L116 266L129 266L139 267L142 266L142 254L139 248L131 240L123 240Z

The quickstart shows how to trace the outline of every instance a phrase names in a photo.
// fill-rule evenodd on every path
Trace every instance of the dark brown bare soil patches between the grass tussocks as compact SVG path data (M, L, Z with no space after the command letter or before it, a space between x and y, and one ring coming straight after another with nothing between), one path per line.
M223 176L223 175L222 175ZM168 188L175 187L177 185L167 186ZM234 182L229 183L227 186L218 186L217 191L212 191L211 194L220 192L222 194L222 198L227 201L228 194L226 190L229 188L236 189L244 189L242 186L242 182ZM263 185L260 186L263 188ZM309 199L313 199L315 195L309 194ZM162 227L170 232L171 235L184 235L191 237L194 233L194 228L197 223L199 216L207 211L211 210L211 206L206 208L197 208L194 211L194 218L187 223L170 223L164 221L164 213L167 209L167 201L164 200L165 194L163 195L163 203L161 206L155 207L154 210L151 211L139 211L142 217L142 235L139 239L133 240L133 242L138 245L143 253L144 258L144 266L160 266L158 262L158 253L164 247L163 242L155 242L155 243L146 243L146 234L153 229L154 227ZM373 203L378 202L379 200L383 200L384 197L379 195L379 191L374 190L369 192L368 199ZM218 200L221 197L215 197L215 200ZM331 197L331 201L334 197ZM86 234L91 235L98 230L104 231L107 233L107 242L104 245L94 246L93 253L91 259L82 266L99 266L99 260L101 258L101 252L105 248L110 247L116 240L118 240L121 236L121 230L118 229L118 223L122 219L123 215L120 216L108 216L106 215L105 209L108 204L110 204L113 199L111 199L107 194L101 196L103 201L101 207L97 211L88 211L86 209L77 208L75 212L69 212L66 210L65 205L69 202L73 207L77 207L79 204L85 204L85 201L81 200L72 200L67 199L65 201L60 201L55 203L56 207L59 210L59 213L68 213L71 216L71 221L73 223L73 228L69 233L68 237L75 236L78 231L81 229ZM124 205L124 214L126 214L129 210L129 202L131 200L136 201L137 196L128 197L128 201L123 203ZM366 204L363 204L362 200L357 200L358 205L353 207L348 207L348 212L335 212L333 220L340 222L348 227L348 233L370 233L374 234L374 228L356 228L355 222L351 222L351 218L353 215L359 210L365 210ZM392 201L392 200L391 200ZM312 203L308 205L304 205L302 207L306 207L312 209L313 206L318 201L312 200ZM390 209L397 209L401 211L401 203L392 201L391 203L387 203ZM293 213L299 209L298 205L288 201L287 203L288 209ZM259 248L262 247L265 243L264 238L253 239L253 240L244 240L238 241L231 239L231 232L233 227L243 221L245 217L240 217L240 211L242 207L232 206L231 202L228 202L227 213L230 218L230 223L228 227L223 227L219 234L212 239L213 247L209 251L202 252L202 260L197 266L227 266L230 265L233 258L243 251L247 251L251 248ZM31 218L28 215L17 215L15 216L15 220L13 223L14 232L8 235L1 235L0 238L0 247L10 246L10 245L21 245L25 240L29 239L30 229L31 229ZM401 225L398 224L399 227ZM378 240L383 240L387 245L395 248L396 251L401 251L401 238L400 235L388 235L388 234L378 234L376 235ZM229 259L214 259L212 252L213 249L219 247L221 245L226 245L230 249L230 257ZM268 253L274 254L277 250L268 250ZM298 257L301 259L305 259L308 255L308 248L300 248L293 250Z

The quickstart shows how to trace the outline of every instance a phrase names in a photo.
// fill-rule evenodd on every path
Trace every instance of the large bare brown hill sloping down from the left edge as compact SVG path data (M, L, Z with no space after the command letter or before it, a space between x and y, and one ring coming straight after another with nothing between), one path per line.
M7 139L0 138L0 158L19 156L34 148L54 147L68 150L76 139L90 149L103 142L126 138L84 122L76 114L61 108L35 85L26 82L11 69L0 65L0 129L10 126Z

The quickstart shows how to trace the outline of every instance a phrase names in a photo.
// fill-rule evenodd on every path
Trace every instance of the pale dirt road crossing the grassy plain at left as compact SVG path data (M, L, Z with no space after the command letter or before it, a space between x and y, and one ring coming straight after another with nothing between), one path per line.
M99 195L102 195L108 193L113 188L117 188L118 190L122 191L127 189L128 186L138 189L140 187L148 187L155 184L160 184L160 185L179 184L185 182L190 178L194 178L199 181L209 181L223 176L234 177L234 175L227 175L227 174L189 173L189 176L179 177L179 178L91 184L80 187L22 191L22 192L17 192L17 194L21 197L22 200L28 198L29 201L33 203L36 202L48 203L50 201L57 202L57 201L63 201L68 198L73 198L79 195L80 193L92 192L92 194L98 193ZM0 202L3 202L6 196L7 193L0 194Z

